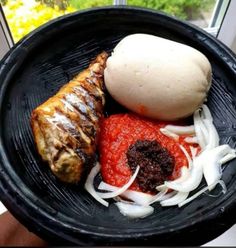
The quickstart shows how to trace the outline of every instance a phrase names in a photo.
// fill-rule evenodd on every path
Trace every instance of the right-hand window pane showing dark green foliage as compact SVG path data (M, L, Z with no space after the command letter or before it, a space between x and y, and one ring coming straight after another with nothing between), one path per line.
M217 0L128 0L127 2L128 5L159 10L206 28Z

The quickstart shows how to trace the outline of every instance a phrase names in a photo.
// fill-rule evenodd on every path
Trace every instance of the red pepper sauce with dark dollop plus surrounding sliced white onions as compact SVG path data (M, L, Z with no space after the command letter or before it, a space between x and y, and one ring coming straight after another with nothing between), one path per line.
M152 214L155 202L162 207L182 207L218 184L226 193L222 165L234 159L236 151L219 144L206 105L194 112L193 122L180 125L134 114L104 119L99 141L101 165L92 169L85 188L106 207L106 199L115 199L120 212L129 218ZM168 173L162 174L166 169ZM95 189L94 179L100 171L102 181ZM203 178L207 185L199 190Z

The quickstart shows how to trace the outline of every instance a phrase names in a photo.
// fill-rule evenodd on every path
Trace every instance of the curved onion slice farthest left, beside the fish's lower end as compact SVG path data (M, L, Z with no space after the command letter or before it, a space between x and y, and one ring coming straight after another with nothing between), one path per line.
M98 172L100 171L101 166L99 163L97 163L92 170L90 171L87 180L85 182L85 189L90 193L91 196L94 197L94 199L96 199L98 202L100 202L102 205L104 205L105 207L109 206L109 203L105 200L103 200L98 192L95 191L93 183L94 183L94 178L96 177L96 175L98 174Z

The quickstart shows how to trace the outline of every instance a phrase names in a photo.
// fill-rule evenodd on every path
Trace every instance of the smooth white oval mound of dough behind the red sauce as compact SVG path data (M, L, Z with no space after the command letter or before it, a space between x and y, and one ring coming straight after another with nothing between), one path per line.
M126 108L146 117L176 120L202 105L211 65L198 50L148 34L126 36L104 72L106 88Z

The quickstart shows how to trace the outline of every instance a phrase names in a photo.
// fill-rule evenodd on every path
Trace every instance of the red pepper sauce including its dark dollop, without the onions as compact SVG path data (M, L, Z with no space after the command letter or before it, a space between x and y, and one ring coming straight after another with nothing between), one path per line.
M104 181L120 187L128 182L138 165L137 184L131 189L155 193L157 185L177 178L179 169L188 164L179 144L189 152L190 144L183 137L177 142L165 136L160 129L166 124L128 113L105 118L101 122L99 138Z

